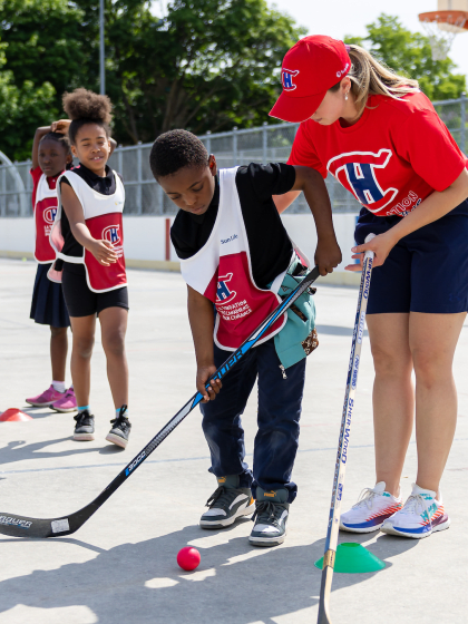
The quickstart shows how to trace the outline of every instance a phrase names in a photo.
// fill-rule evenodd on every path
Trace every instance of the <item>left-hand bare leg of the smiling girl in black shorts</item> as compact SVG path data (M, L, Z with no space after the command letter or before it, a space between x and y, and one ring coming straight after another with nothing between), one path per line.
M89 404L91 354L95 344L96 314L70 316L72 331L71 379L78 407Z

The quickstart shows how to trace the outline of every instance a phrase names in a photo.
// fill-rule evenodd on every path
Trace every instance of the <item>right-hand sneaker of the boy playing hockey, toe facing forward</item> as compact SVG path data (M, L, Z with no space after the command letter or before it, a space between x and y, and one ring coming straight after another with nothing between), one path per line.
M289 491L277 489L265 491L256 488L256 509L252 517L255 523L248 542L254 546L277 546L286 537L286 521L290 504L286 503Z

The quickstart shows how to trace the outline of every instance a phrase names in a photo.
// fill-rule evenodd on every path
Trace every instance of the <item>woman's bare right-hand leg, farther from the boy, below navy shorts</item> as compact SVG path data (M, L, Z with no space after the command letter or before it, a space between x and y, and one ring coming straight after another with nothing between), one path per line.
M457 422L452 361L465 318L465 312L411 312L409 320L409 343L416 374L416 481L419 487L436 493L439 490Z

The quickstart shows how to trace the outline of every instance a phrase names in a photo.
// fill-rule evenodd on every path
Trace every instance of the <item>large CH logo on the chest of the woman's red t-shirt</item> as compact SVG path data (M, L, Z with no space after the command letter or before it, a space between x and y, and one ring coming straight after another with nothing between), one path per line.
M382 188L378 179L391 155L391 149L380 149L377 154L349 152L331 158L326 168L344 188L353 193L358 202L370 212L379 212L391 204L398 194L397 188Z

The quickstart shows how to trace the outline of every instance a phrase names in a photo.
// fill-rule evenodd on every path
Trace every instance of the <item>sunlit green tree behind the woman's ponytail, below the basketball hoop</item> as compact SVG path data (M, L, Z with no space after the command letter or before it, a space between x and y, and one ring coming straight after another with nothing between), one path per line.
M432 60L429 39L406 29L397 17L386 13L367 25L368 36L345 37L347 43L367 48L379 60L409 78L419 80L423 92L433 100L460 97L465 76L454 74L450 58Z

